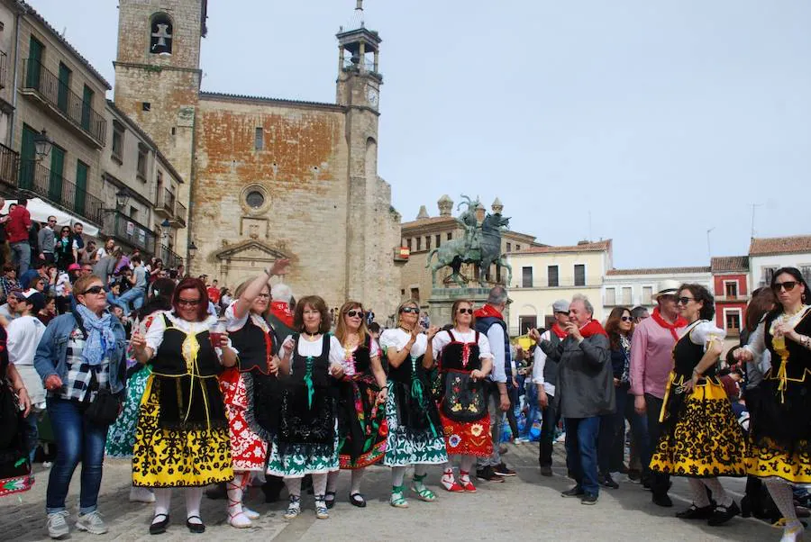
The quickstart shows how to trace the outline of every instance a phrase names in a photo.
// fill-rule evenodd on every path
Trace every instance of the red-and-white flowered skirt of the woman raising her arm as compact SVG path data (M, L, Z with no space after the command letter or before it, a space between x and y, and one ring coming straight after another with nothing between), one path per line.
M268 443L248 425L246 413L250 408L245 381L239 369L225 369L219 376L223 391L225 414L231 435L231 455L235 471L264 471Z

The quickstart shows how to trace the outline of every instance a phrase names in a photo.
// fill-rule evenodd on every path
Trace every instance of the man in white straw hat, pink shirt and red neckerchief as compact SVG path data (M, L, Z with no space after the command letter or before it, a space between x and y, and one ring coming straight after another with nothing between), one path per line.
M687 326L687 322L679 317L676 310L678 292L678 281L661 281L653 296L658 306L653 309L651 318L637 324L631 339L633 406L640 414L647 412L648 417L648 441L639 443L643 479L646 478L651 483L653 502L665 507L673 506L668 496L670 475L652 473L650 463L652 450L659 443L661 434L659 414L668 377L673 369L672 350L679 340L681 330Z

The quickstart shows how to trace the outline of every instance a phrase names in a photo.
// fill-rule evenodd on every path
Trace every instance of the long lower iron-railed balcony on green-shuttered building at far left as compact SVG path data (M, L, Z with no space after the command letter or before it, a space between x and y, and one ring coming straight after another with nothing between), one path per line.
M104 203L87 188L74 185L56 171L51 171L39 162L23 161L20 168L21 190L37 194L59 207L74 212L88 221L102 223Z

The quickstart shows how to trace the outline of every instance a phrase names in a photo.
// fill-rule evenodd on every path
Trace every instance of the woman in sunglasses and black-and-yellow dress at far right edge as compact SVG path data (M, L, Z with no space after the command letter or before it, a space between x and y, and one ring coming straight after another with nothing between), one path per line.
M771 369L763 377L752 412L747 471L765 478L771 498L786 518L783 540L803 536L797 520L792 483L811 483L811 307L808 285L796 267L783 267L771 278L777 306L735 350L738 361L752 362L765 351Z

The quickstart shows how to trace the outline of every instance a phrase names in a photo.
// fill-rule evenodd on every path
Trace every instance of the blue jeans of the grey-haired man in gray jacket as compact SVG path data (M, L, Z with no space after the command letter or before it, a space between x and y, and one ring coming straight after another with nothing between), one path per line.
M575 482L589 495L599 495L597 435L600 417L566 419L566 465Z

